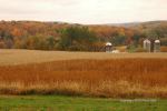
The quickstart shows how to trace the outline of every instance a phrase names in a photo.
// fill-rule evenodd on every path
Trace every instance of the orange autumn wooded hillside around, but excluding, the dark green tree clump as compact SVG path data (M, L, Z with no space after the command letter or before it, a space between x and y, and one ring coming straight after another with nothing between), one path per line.
M115 46L139 46L144 38L159 38L167 46L167 21L89 26L60 21L0 21L0 48L57 50L61 37L71 27L86 27L85 30L88 29L97 38L95 46L98 47L106 41L111 41ZM78 30L75 29L71 33L78 38L73 31Z

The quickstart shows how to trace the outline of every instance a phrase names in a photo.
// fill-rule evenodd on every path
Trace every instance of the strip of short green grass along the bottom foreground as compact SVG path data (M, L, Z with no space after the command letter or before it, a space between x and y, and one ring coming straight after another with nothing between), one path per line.
M0 111L166 111L167 100L120 100L59 95L0 97Z

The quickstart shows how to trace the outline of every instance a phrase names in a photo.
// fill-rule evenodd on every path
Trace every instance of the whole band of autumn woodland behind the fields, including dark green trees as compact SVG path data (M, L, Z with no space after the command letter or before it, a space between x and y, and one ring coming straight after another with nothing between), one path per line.
M59 22L0 21L0 48L36 50L99 51L107 41L138 48L145 38L167 46L167 24L147 28L80 26Z

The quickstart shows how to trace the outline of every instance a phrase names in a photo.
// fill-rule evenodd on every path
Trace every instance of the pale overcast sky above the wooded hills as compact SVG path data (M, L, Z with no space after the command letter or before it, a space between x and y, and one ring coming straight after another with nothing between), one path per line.
M87 24L167 20L167 0L0 0L0 20Z

